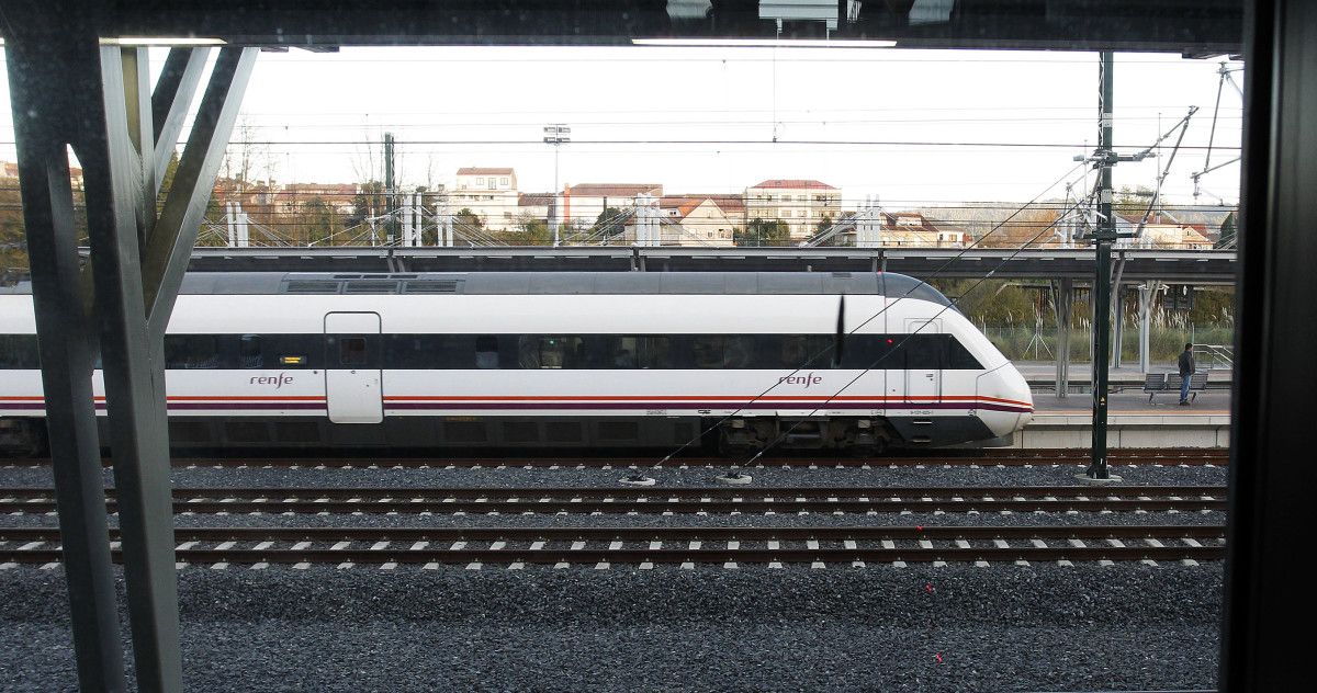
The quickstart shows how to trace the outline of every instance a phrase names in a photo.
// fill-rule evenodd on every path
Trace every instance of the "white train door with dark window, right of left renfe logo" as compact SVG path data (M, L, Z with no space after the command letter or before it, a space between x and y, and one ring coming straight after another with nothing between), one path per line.
M325 314L325 405L335 423L385 419L379 314Z

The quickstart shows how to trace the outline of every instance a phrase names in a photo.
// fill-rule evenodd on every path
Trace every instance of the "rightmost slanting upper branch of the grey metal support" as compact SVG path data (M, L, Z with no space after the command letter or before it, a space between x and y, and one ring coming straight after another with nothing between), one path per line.
M211 71L202 105L192 120L183 158L159 218L148 234L142 255L144 301L149 308L151 338L165 335L178 287L183 281L196 231L224 160L224 149L242 107L258 49L223 49Z

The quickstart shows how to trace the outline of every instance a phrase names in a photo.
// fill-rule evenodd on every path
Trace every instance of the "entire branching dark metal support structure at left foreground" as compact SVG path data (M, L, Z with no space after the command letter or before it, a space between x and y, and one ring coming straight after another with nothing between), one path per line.
M104 367L124 579L140 690L182 690L163 331L257 49L224 49L174 183L161 180L205 53L101 46L58 0L8 26L7 58L79 684L121 690L92 364ZM83 167L90 267L72 225L67 147ZM88 312L88 308L92 310Z

